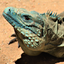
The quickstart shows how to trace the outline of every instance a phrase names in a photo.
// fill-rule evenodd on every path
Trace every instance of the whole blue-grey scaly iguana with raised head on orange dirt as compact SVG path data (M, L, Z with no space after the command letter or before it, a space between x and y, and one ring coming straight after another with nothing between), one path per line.
M3 16L13 26L18 43L26 54L37 56L46 52L64 57L64 12L57 15L50 11L38 13L7 7Z

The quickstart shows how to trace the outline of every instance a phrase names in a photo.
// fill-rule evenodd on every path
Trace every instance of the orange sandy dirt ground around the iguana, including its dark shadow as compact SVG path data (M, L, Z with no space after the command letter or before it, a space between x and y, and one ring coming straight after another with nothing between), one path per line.
M8 45L13 39L11 34L14 33L14 30L2 16L6 7L25 8L39 13L51 10L59 14L64 11L64 0L0 0L0 64L15 64L15 61L16 64L64 64L64 59L57 59L44 53L37 57L25 54L21 56L23 51L17 47L17 42Z

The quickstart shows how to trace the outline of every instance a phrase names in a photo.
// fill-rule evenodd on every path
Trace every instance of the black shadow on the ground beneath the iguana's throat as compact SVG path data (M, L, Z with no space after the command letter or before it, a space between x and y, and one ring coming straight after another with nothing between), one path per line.
M23 53L21 56L22 58L17 59L15 64L55 64L64 61L64 58L56 58L47 53L41 53L38 56L28 56Z

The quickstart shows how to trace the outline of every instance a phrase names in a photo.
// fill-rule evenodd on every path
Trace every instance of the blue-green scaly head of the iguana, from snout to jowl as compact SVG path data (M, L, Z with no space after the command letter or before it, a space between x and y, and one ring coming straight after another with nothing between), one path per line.
M43 14L44 15L44 14ZM43 43L44 22L41 14L26 9L7 7L3 16L20 33L19 37L30 48L36 48Z

